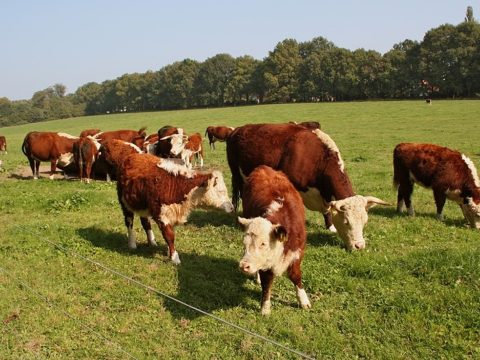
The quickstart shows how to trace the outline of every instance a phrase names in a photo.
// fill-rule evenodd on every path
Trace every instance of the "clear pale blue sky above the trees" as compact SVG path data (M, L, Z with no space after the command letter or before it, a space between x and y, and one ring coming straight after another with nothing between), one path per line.
M221 53L262 60L285 39L383 54L457 25L467 6L480 19L480 0L1 0L0 98Z

